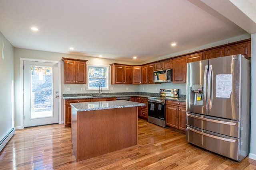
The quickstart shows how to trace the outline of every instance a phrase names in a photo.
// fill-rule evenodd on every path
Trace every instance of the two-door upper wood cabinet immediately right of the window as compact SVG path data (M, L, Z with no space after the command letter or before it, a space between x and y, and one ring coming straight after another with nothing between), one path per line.
M132 84L132 66L111 65L111 84Z

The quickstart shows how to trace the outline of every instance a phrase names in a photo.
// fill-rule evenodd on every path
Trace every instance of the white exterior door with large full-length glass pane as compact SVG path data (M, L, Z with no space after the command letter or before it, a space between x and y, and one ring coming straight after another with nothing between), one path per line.
M58 63L23 66L24 127L58 123Z

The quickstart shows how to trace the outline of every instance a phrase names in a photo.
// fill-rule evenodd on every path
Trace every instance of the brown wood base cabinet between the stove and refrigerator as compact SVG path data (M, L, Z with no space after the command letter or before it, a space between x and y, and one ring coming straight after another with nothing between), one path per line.
M186 102L166 100L166 125L186 130Z

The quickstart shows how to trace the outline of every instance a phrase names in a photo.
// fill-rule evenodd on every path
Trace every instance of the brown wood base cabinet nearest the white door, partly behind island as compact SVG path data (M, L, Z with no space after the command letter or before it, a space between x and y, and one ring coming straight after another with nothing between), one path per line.
M90 102L90 99L70 99L64 100L64 126L71 126L71 106L70 103L79 103L79 102Z

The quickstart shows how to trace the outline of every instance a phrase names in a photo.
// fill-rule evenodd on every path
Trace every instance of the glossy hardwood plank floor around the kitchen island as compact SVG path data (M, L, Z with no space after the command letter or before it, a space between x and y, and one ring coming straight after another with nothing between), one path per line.
M61 124L17 130L0 152L0 169L256 169L248 157L236 162L187 143L175 129L138 122L138 145L80 162L72 153L71 128Z

